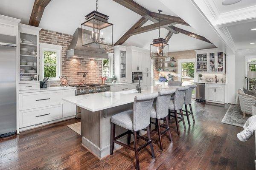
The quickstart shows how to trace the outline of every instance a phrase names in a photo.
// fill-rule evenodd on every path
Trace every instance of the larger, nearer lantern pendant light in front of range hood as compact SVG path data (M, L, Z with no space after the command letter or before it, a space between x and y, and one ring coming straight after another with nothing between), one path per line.
M82 45L101 48L101 45L113 46L113 24L108 23L108 15L98 12L98 0L96 11L85 16L86 21L81 24Z

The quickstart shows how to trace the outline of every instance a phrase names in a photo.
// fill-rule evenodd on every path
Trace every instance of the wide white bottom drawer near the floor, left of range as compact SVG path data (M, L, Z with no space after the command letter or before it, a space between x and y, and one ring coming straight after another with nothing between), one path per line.
M20 127L37 125L62 118L62 105L20 111Z

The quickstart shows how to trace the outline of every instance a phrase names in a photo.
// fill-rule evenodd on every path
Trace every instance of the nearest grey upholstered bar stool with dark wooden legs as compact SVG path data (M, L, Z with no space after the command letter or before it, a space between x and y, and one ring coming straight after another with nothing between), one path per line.
M135 96L133 110L124 111L111 117L112 147L111 147L110 154L113 155L114 143L119 144L123 147L126 147L130 150L133 150L135 152L137 170L140 169L138 152L142 150L144 147L146 147L147 145L150 145L152 158L155 158L154 149L153 149L151 136L150 136L149 125L150 125L150 111L151 111L154 99L157 96L158 96L158 93ZM121 126L127 129L128 131L115 137L116 125ZM148 139L143 136L137 135L137 131L143 130L145 128L147 129ZM131 130L133 130L133 132L131 132ZM124 144L122 142L117 141L117 139L119 139L122 136L125 136L126 134L128 135L128 138L127 138L128 144ZM134 136L134 147L131 147L129 145L131 140L131 134L133 134ZM146 143L138 148L137 138L145 140Z

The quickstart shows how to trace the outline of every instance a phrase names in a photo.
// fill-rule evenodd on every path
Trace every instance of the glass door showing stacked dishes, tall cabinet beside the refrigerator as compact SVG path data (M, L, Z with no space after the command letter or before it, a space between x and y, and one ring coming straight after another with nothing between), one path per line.
M38 81L37 36L20 33L20 82Z

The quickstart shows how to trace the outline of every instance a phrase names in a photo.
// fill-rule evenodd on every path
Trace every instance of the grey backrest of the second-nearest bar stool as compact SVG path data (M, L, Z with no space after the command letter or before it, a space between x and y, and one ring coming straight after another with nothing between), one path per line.
M162 119L168 116L169 101L171 99L172 94L174 93L175 91L173 90L158 92L157 102L156 102L157 119Z

